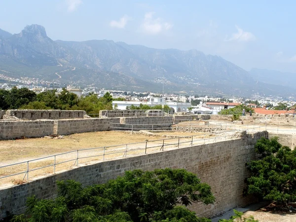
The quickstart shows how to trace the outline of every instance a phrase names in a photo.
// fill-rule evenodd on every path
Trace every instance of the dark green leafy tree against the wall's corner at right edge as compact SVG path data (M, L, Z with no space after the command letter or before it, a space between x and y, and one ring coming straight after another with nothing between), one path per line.
M260 159L248 163L247 192L282 204L296 201L296 149L282 146L274 137L258 140L255 151Z

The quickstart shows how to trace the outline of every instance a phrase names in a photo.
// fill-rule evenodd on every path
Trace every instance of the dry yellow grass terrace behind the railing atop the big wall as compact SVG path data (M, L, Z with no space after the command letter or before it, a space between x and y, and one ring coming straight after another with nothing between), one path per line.
M43 177L48 174L63 171L66 169L71 169L77 165L77 149L79 149L79 164L89 164L94 161L111 160L122 157L130 157L134 155L144 154L145 145L147 142L147 153L157 152L161 149L163 141L164 145L168 144L181 144L180 147L190 146L190 138L166 138L167 136L191 136L196 135L198 138L200 134L198 133L185 133L185 132L156 132L153 136L143 135L143 134L131 134L127 132L118 131L104 131L104 132L91 132L91 133L81 133L73 134L70 136L65 136L64 139L50 139L50 138L30 138L30 139L20 139L20 140L6 140L0 141L0 166L28 161L40 157L46 157L50 155L56 155L63 152L69 152L62 155L54 156L29 162L29 180L37 177ZM202 136L203 137L203 136ZM133 145L128 145L126 147L122 144L136 143ZM118 145L119 144L119 145ZM120 145L121 144L121 145ZM118 145L118 146L114 146ZM105 146L105 152L104 147ZM178 146L164 146L164 150L177 148ZM80 150L83 148L97 148L97 149L87 149ZM144 148L144 149L143 149ZM126 152L127 150L127 152ZM103 156L103 154L105 155ZM92 156L92 157L89 157ZM85 157L80 159L81 157ZM72 161L61 163L66 160L73 159ZM54 169L54 162L61 163L57 164ZM44 167L47 166L47 167ZM37 169L44 167L41 169ZM37 170L33 170L37 169ZM33 171L32 171L33 170ZM5 168L0 168L0 177L5 175L11 175L27 171L27 162L22 164L13 165ZM0 179L1 186L16 185L26 182L27 174L21 173L12 177Z

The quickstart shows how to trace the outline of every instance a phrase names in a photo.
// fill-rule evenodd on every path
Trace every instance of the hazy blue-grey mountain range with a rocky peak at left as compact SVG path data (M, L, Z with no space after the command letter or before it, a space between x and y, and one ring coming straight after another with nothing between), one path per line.
M154 49L111 40L54 41L40 25L14 35L0 30L0 74L134 91L161 92L162 83L166 92L286 96L294 91L293 85L262 81L258 72L248 73L195 49Z

